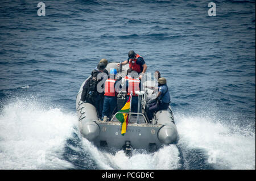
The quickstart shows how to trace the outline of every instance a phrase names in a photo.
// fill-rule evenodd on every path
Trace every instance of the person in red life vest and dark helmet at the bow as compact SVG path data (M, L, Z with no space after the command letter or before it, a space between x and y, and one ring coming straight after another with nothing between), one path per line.
M126 61L123 61L121 64L126 65L129 63L129 68L137 71L138 74L141 74L139 75L139 79L141 79L147 70L147 65L144 59L139 56L139 54L135 53L134 50L129 51L128 57L129 58ZM117 64L117 66L120 66L120 64Z

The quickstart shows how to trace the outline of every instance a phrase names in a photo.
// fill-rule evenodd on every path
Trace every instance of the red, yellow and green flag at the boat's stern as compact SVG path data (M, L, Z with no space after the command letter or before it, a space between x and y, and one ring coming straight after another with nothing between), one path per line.
M130 99L131 99L131 95L130 95L129 99L127 100L127 102L125 103L125 106L123 106L123 108L118 112L129 112L130 111ZM115 117L117 117L117 119L122 123L121 134L123 136L126 133L126 129L127 129L127 125L128 125L128 117L129 117L128 113L117 113L117 115L115 115Z

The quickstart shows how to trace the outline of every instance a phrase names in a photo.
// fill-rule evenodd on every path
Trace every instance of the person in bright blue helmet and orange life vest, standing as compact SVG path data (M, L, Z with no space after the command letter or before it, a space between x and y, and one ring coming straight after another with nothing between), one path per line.
M117 92L115 92L115 74L117 74L116 69L110 70L110 78L105 81L105 94L104 94L104 104L102 111L102 119L104 116L109 117L113 113L115 106L117 106Z

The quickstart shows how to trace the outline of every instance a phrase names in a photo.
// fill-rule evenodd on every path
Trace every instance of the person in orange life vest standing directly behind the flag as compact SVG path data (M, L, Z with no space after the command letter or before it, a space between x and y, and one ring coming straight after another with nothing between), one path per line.
M131 99L131 112L138 111L138 95L135 94L135 91L139 91L141 87L141 81L139 81L138 73L132 69L127 70L127 81L126 81L126 102L133 91L133 98Z

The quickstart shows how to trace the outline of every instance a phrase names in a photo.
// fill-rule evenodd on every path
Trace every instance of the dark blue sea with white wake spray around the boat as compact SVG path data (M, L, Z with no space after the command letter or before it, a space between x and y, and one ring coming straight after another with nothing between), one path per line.
M255 1L0 1L0 169L255 169ZM216 4L209 16L208 3ZM179 141L108 153L76 95L101 58L167 78Z

